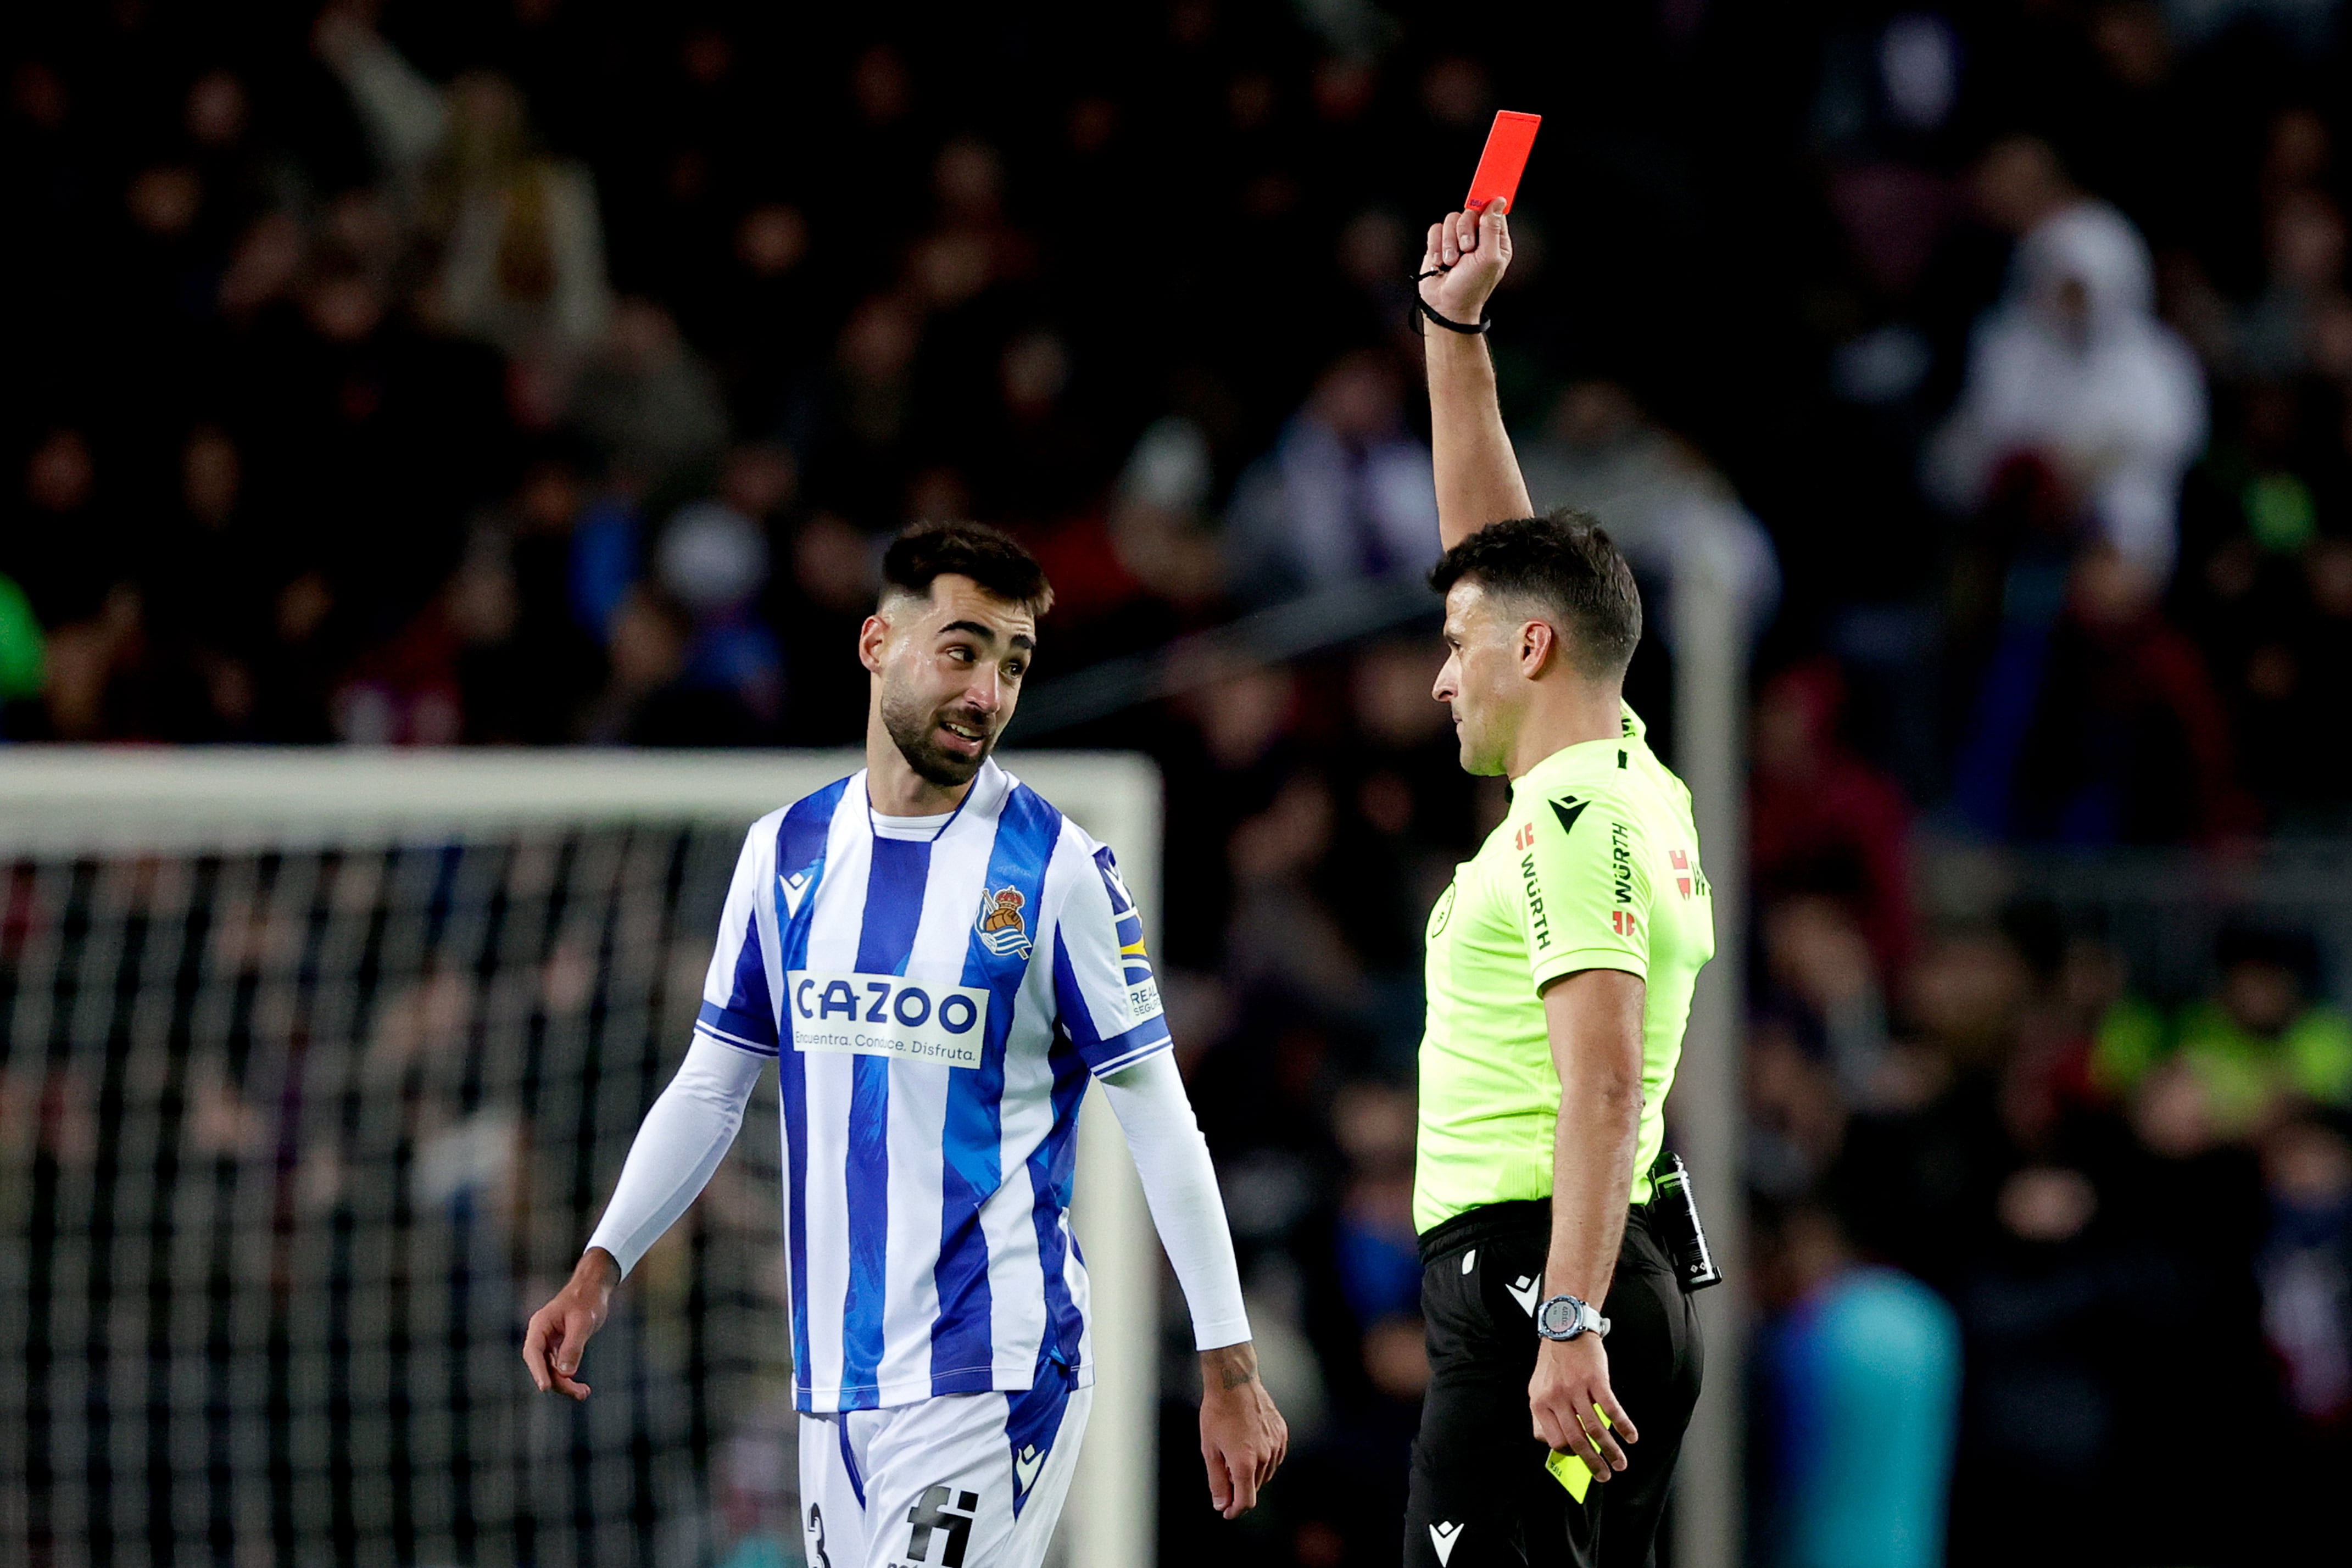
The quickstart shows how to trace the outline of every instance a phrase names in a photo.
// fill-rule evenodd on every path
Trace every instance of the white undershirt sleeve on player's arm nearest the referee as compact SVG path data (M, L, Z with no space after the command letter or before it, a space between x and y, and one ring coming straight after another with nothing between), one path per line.
M1209 1140L1192 1119L1192 1100L1174 1053L1157 1051L1103 1077L1103 1095L1127 1131L1127 1150L1136 1157L1160 1246L1167 1248L1192 1309L1195 1349L1240 1345L1249 1338L1242 1272L1232 1262L1232 1232L1225 1227L1216 1166L1209 1164Z

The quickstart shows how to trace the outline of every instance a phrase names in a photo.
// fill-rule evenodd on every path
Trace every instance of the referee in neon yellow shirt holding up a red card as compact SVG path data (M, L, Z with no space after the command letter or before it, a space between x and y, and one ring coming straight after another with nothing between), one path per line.
M1590 520L1529 515L1482 341L1508 266L1498 202L1430 228L1418 284L1446 545L1435 696L1463 769L1512 788L1428 926L1430 1389L1404 1561L1646 1568L1700 1375L1649 1171L1715 922L1691 792L1623 701L1632 569ZM1581 1497L1548 1450L1590 1467Z

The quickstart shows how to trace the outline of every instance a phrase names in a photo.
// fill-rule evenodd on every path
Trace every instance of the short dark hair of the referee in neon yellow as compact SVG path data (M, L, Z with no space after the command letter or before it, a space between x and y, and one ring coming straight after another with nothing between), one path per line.
M1642 590L1609 531L1585 512L1489 522L1430 569L1430 588L1477 583L1534 599L1562 618L1569 661L1585 675L1623 675L1642 642Z

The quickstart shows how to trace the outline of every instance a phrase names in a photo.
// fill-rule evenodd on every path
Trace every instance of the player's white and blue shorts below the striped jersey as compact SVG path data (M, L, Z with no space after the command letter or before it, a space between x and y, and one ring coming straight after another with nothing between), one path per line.
M1021 1394L802 1415L809 1568L1040 1568L1091 1406L1047 1366Z

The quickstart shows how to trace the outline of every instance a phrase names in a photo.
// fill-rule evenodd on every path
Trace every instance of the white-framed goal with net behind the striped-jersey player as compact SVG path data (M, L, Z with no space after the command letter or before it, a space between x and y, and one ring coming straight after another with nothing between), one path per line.
M1009 757L1155 912L1129 757ZM774 1079L574 1406L522 1321L849 755L0 752L0 1561L800 1563ZM1070 1563L1150 1561L1150 1227L1084 1119ZM1108 1131L1108 1143L1105 1143Z

